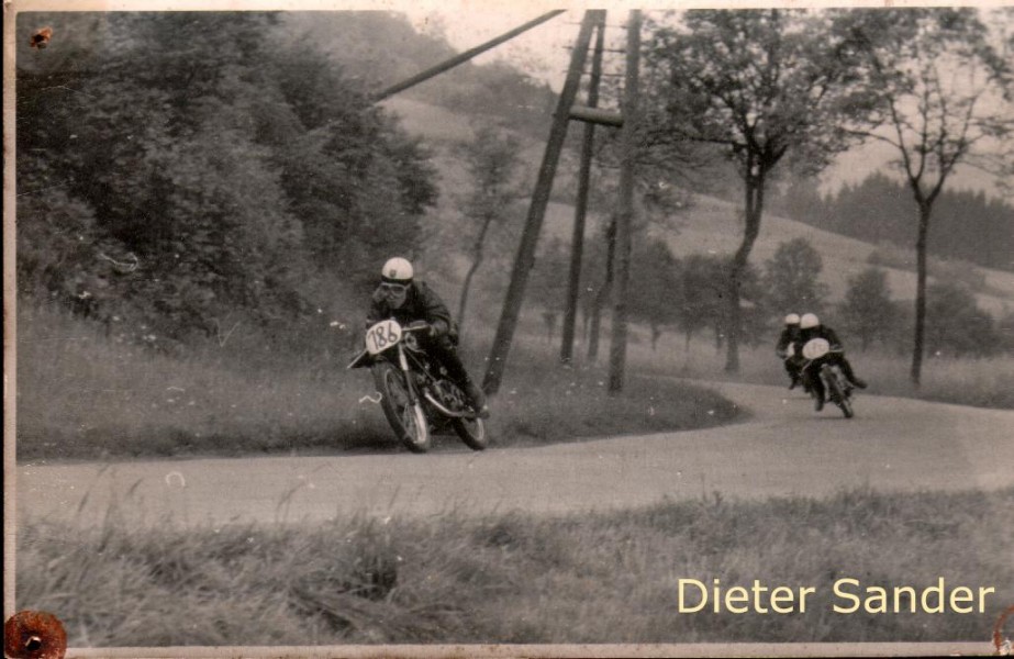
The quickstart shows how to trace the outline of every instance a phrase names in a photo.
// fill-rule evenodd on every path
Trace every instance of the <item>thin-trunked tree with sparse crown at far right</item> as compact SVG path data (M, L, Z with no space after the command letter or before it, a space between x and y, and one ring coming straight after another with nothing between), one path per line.
M1014 78L972 9L860 11L843 18L865 57L879 126L856 134L890 145L915 200L916 292L910 378L920 384L927 319L927 244L934 203L959 164L1014 168ZM877 125L877 124L874 124ZM879 127L878 126L878 127Z

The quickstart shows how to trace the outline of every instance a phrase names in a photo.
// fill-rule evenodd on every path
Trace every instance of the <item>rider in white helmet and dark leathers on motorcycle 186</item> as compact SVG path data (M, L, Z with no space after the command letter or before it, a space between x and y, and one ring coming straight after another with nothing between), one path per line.
M447 375L470 399L472 407L483 418L489 406L482 390L472 382L458 356L458 332L450 312L433 289L413 279L412 264L394 257L383 264L380 286L372 294L367 326L393 317L402 325L424 321L430 332L419 336L420 347L447 369Z

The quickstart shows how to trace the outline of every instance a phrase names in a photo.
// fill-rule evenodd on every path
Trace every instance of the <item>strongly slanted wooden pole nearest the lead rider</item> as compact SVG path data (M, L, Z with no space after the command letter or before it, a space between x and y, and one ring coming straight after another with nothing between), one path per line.
M601 13L601 11L584 12L584 19L581 21L581 29L578 32L578 42L570 58L570 68L564 82L564 90L560 92L560 99L553 115L549 141L546 143L546 153L538 170L538 180L532 193L532 204L528 206L524 232L517 247L517 256L514 259L511 283L503 301L503 312L500 316L500 324L497 326L493 347L490 350L486 377L482 380L482 389L489 394L495 394L500 390L500 381L503 378L508 354L511 351L514 330L517 327L517 316L521 314L521 303L524 301L525 287L528 283L528 272L535 265L535 247L538 243L538 233L543 226L546 206L549 205L553 178L556 175L556 166L564 149L564 139L567 137L570 108L577 97L581 71L584 69L588 45L591 42L591 31L597 21L595 13Z

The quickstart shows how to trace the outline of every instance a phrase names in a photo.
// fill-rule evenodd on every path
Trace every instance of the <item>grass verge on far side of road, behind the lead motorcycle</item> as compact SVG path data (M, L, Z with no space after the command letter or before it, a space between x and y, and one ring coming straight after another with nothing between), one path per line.
M236 356L212 344L170 357L51 310L26 309L19 321L19 459L401 450L369 372L345 370L347 350L296 358L243 345ZM600 368L547 369L519 353L493 405L494 446L702 427L738 414L686 383L608 396ZM479 351L465 354L475 361Z

